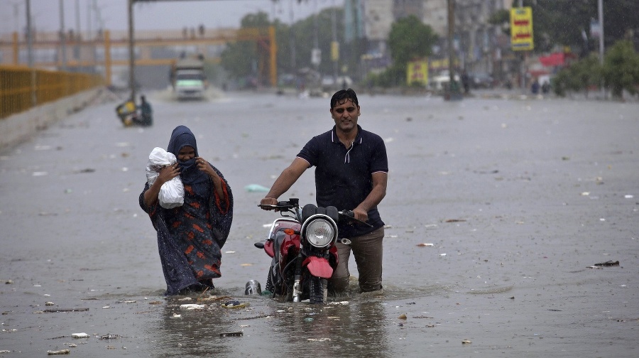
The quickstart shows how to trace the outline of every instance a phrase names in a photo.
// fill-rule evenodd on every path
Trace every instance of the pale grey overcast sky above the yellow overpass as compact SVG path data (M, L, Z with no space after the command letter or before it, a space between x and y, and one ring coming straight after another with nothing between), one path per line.
M60 30L60 0L0 0L0 33L23 31L27 1L31 3L31 21L37 31ZM126 30L127 1L62 0L65 30L77 30L79 20L81 31L89 27L96 31L100 19L104 29ZM344 0L303 0L302 4L297 0L280 0L276 4L271 0L161 0L136 3L133 18L138 30L197 28L200 24L206 28L238 28L246 13L264 11L269 18L290 23L291 8L293 21L298 21L316 10L343 4Z

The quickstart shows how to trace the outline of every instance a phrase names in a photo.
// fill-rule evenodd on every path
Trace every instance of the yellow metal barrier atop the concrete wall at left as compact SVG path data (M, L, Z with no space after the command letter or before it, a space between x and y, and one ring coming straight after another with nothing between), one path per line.
M0 66L0 119L103 85L100 75Z

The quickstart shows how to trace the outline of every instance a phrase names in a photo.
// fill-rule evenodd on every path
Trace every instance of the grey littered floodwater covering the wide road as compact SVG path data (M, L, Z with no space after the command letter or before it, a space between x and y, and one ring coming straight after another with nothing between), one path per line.
M361 94L359 123L386 140L391 168L384 291L310 307L244 295L264 284L253 242L275 219L247 188L332 126L329 99L148 99L151 128L97 103L0 152L0 357L639 356L636 102ZM235 196L202 310L163 297L138 207L148 154L178 124ZM285 196L314 202L312 180ZM606 261L619 264L595 266ZM231 299L249 305L222 307Z

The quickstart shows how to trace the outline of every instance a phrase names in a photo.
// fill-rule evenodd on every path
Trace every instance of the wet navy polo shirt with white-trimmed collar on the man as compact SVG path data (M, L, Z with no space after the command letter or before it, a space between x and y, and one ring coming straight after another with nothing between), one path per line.
M337 138L335 126L313 137L298 157L315 166L317 206L334 206L337 210L354 210L373 189L371 175L388 173L386 145L377 134L357 126L357 136L351 148ZM339 224L339 237L357 237L383 227L377 207L368 211L368 224Z

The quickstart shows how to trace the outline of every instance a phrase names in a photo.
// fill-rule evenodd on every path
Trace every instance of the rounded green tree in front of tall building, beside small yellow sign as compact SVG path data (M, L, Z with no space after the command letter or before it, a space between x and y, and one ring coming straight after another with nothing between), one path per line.
M405 85L406 69L413 60L426 58L437 43L437 34L416 16L400 18L391 26L388 49L393 64L385 72L369 77L373 85Z

